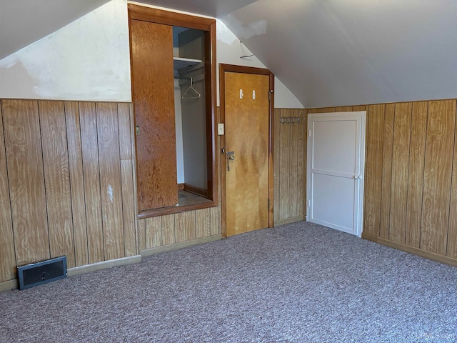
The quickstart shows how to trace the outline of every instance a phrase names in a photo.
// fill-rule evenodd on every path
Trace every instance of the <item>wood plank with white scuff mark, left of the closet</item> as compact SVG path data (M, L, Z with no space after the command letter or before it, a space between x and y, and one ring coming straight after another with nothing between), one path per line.
M98 103L96 105L96 118L105 259L119 259L125 256L125 251L119 124L116 104Z

